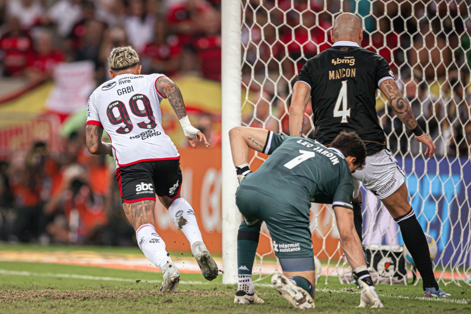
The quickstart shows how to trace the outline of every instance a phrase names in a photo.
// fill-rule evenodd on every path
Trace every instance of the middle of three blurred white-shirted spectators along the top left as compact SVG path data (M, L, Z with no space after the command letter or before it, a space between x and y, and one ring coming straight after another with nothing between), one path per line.
M49 8L42 18L43 24L54 23L62 37L66 37L72 31L82 15L81 0L59 0Z

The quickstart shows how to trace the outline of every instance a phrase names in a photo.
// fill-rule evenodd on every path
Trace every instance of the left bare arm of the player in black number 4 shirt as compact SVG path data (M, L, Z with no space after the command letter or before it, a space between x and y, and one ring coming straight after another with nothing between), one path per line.
M311 97L311 89L304 82L296 82L293 87L292 101L290 106L290 135L302 136L304 123L304 110Z

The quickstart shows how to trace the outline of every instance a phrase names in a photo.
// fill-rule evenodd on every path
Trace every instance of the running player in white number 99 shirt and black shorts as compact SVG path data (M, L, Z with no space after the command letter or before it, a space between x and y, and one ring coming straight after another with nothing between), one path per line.
M140 74L139 57L132 47L114 48L108 62L112 79L98 86L88 101L89 152L114 157L124 213L141 251L162 269L160 290L176 291L180 274L155 231L155 195L187 237L204 278L213 280L218 267L203 243L193 208L180 197L180 156L162 129L162 99L168 98L192 147L197 140L206 147L210 144L191 125L179 87L163 74ZM103 129L112 143L101 141Z

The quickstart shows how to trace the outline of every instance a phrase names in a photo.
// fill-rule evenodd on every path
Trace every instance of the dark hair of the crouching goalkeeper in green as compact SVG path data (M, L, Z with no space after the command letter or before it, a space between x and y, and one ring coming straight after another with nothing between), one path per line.
M355 132L342 131L330 144L330 148L339 149L345 157L355 157L355 165L360 164L358 169L365 165L366 147L363 141Z

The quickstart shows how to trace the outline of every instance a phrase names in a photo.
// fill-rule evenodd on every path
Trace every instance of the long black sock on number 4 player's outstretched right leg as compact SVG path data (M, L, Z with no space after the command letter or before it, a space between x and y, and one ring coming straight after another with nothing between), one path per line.
M406 213L404 216L394 219L401 229L401 235L409 250L414 264L420 275L422 276L422 288L434 287L439 289L439 284L435 280L432 269L432 260L430 259L429 245L423 234L417 218L415 218L414 209Z

